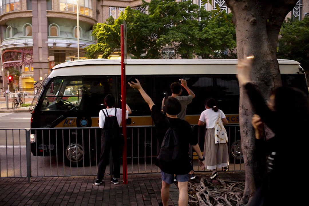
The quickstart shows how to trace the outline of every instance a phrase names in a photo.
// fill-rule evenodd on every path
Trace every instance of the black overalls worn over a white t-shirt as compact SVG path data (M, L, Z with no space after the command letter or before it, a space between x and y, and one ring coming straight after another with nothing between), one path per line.
M102 112L105 116L104 127L102 129L102 137L101 137L101 156L98 164L98 175L97 179L103 179L106 165L108 164L109 151L112 148L112 157L114 163L113 175L114 178L120 178L120 156L122 145L120 144L120 130L117 122L115 108L115 116L108 116L107 109L102 109Z

